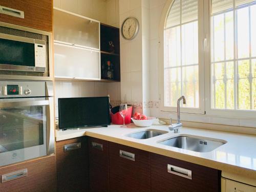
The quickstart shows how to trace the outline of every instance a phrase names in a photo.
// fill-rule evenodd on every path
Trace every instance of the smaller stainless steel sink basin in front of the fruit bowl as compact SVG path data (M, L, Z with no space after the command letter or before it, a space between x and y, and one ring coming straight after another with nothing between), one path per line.
M135 139L149 139L152 137L156 137L159 135L163 135L165 133L168 133L167 131L161 131L161 130L145 130L145 131L141 131L141 132L136 132L136 133L131 133L129 135L126 135L127 137L132 137Z

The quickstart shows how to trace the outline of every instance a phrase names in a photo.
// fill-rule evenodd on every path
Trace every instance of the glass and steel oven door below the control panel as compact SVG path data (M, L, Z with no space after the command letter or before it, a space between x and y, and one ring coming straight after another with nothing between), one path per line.
M0 166L47 155L48 105L48 100L0 103Z

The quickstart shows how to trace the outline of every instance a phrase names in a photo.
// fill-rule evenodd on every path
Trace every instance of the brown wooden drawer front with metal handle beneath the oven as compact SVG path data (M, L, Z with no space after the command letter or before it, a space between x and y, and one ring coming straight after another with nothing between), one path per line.
M0 168L1 192L56 191L56 157L49 156ZM14 179L16 178L16 179Z

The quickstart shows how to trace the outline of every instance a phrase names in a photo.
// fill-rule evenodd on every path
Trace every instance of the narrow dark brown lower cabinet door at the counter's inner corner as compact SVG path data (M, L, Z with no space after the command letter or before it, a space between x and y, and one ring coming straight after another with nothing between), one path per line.
M109 191L109 142L96 138L88 139L89 146L89 191Z

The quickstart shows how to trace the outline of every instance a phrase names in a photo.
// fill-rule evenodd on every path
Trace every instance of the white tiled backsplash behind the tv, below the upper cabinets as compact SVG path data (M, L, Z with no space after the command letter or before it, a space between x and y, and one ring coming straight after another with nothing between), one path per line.
M110 95L111 102L120 102L120 82L87 82L55 80L55 116L58 117L58 98L102 97Z

